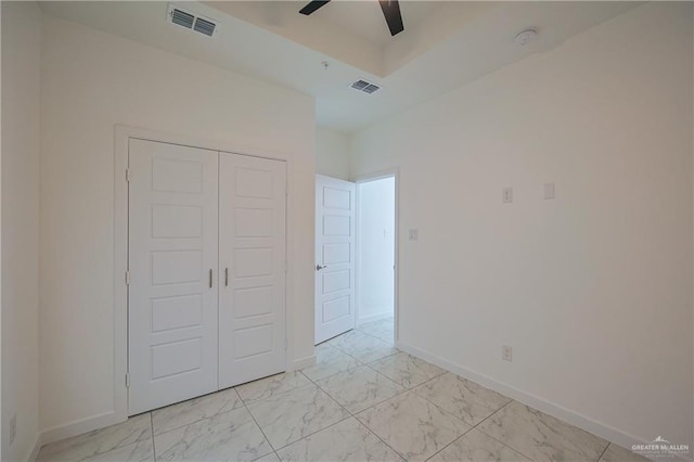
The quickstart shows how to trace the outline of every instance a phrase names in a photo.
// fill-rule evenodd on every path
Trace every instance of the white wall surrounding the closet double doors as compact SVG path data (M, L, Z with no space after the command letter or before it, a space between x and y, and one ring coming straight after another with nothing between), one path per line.
M43 38L42 429L114 411L116 124L291 156L288 359L312 357L313 99L60 20Z

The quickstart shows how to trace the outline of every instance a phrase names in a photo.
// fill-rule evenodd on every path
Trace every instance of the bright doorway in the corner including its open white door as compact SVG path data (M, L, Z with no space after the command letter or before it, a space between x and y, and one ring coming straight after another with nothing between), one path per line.
M395 344L396 248L396 172L356 183L316 177L317 345Z

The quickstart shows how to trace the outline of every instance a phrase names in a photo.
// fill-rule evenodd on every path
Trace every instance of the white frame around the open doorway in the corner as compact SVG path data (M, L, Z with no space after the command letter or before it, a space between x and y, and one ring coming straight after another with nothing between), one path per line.
M376 170L374 172L371 174L363 174L363 175L359 175L357 176L357 179L355 180L355 183L357 184L357 217L356 217L356 228L357 228L357 232L356 232L356 243L355 245L357 246L357 252L356 252L356 265L355 265L355 278L356 278L356 286L355 286L355 298L356 298L356 303L355 303L355 307L356 307L356 311L357 311L357 319L359 319L359 292L360 292L360 275L359 275L359 248L361 246L361 240L359 239L360 236L360 222L359 222L359 207L360 207L360 197L359 197L359 185L361 183L368 183L370 181L376 181L376 180L382 180L384 178L394 178L395 179L395 249L394 249L394 265L395 265L395 274L394 274L394 279L393 279L393 291L394 291L394 297L393 297L393 317L394 317L394 324L395 324L395 338L393 339L395 345L397 346L399 339L400 339L400 334L399 334L399 313L400 313L400 309L399 309L399 293L400 293L400 194L399 194L399 188L400 188L400 167L399 166L395 166L395 167L390 167L390 168L386 168L383 170ZM359 324L357 324L359 325Z

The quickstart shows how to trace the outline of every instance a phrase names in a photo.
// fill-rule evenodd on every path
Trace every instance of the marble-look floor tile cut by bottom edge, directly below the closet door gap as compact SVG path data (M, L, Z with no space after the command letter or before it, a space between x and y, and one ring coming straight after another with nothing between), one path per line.
M254 461L272 452L246 408L154 436L157 461Z

